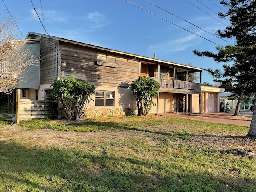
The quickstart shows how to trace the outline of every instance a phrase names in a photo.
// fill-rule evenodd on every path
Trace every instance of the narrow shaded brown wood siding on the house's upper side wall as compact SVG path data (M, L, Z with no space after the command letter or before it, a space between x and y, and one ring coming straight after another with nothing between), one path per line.
M40 84L51 84L57 79L57 49L57 40L42 37Z

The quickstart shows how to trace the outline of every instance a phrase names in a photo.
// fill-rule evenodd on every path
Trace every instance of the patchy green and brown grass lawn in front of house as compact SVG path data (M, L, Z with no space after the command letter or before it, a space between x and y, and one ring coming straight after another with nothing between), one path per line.
M163 116L0 126L0 191L255 192L248 127Z

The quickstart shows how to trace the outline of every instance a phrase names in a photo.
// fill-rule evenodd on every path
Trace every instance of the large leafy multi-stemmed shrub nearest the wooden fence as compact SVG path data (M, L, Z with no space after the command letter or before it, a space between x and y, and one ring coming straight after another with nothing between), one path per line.
M95 93L93 85L73 77L62 78L54 82L51 87L52 98L62 104L68 120L79 120L92 100L90 96Z

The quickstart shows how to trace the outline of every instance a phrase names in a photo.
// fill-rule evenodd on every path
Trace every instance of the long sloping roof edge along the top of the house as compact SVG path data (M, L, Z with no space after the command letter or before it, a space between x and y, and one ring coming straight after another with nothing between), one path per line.
M36 37L36 36L38 36L38 37ZM73 40L68 40L68 39L59 38L59 37L55 37L55 36L50 36L50 35L46 35L46 34L28 32L28 34L26 36L26 39L40 38L40 37L51 38L51 39L62 41L62 42L68 42L68 43L72 43L72 44L76 44L76 45L85 46L85 47L88 47L88 48L94 48L96 50L112 52L112 53L115 53L115 54L121 54L121 55L128 56L130 58L139 58L140 60L143 60L145 62L149 62L150 64L156 64L156 63L170 64L172 66L177 66L179 68L190 69L193 72L201 72L202 71L201 68L197 68L197 67L193 67L193 66L188 66L188 65L184 65L184 64L178 64L178 63L174 63L174 62L159 60L159 59L150 58L150 57L141 56L141 55L136 55L136 54L127 53L127 52L122 52L122 51L118 51L118 50L113 50L113 49L109 49L109 48L104 48L104 47L100 47L100 46L95 46L95 45L91 45L91 44L86 44L86 43L82 43L82 42L77 42L77 41L73 41Z

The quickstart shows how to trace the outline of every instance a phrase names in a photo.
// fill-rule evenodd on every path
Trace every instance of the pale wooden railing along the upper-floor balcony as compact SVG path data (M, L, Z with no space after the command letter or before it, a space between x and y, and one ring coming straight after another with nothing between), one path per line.
M201 90L200 83L193 83L188 81L162 79L156 77L148 77L156 80L162 88L176 88L176 89L189 89L189 90Z

